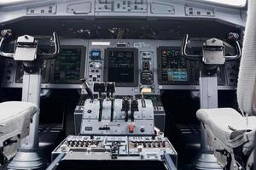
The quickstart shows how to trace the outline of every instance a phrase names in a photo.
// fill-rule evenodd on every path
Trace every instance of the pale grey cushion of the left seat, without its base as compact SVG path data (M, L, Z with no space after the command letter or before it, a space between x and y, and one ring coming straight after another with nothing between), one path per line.
M32 116L38 107L31 103L11 101L0 103L0 146L6 139L20 134L24 138L29 133Z

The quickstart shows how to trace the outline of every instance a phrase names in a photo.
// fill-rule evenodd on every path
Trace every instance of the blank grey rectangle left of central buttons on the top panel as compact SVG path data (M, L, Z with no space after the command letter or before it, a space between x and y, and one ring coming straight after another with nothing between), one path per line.
M68 14L89 14L91 12L91 2L72 3L67 5Z

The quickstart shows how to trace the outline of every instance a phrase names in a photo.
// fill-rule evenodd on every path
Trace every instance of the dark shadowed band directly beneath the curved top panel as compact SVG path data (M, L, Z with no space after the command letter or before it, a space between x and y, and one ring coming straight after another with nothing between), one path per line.
M227 37L230 31L240 33L241 28L212 20L20 20L7 26L16 36L49 35L57 31L61 37L81 38L137 38L180 39L189 33L191 37Z

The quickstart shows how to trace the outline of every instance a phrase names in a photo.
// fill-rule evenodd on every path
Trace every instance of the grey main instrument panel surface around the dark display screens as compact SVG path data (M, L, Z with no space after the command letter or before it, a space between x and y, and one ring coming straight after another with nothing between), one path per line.
M102 82L103 81L103 68L104 68L104 57L105 57L105 49L106 48L119 48L125 45L125 48L137 48L138 49L138 86L137 87L116 87L116 94L119 95L136 95L140 94L141 88L151 88L152 94L160 94L160 90L165 89L187 89L187 90L198 90L199 86L195 84L188 84L188 85L159 85L158 82L158 56L157 56L157 48L160 46L165 47L177 47L181 46L181 41L179 40L135 40L135 39L96 39L96 40L85 40L85 39L61 39L61 45L63 46L70 46L72 47L84 47L86 48L86 54L83 55L84 57L84 64L82 64L84 68L84 75L87 78L90 87L93 87L93 82ZM195 46L200 47L201 43L195 43ZM101 59L92 60L90 59L90 52L92 50L100 50L101 51ZM150 55L143 55L143 53L147 53ZM152 82L150 84L145 84L142 82L142 72L143 72L143 58L151 58L150 64L150 71L153 72ZM9 63L11 62L11 63ZM91 70L96 70L94 67L90 67L90 65L96 65L96 63L100 63L101 66L98 68L98 72L94 72L92 74ZM49 66L49 65L48 65ZM238 62L227 62L225 65L224 71L224 79L226 79L225 84L218 86L219 90L235 90L236 89L236 78L237 78L237 71L238 71ZM17 65L14 61L7 60L4 66L4 76L3 76L3 88L21 88L22 84L15 82L15 78L18 75L15 75L17 69ZM48 67L47 67L48 68ZM48 69L49 70L49 69ZM49 70L48 72L52 71ZM194 71L194 70L192 70ZM196 70L195 70L196 71ZM49 73L47 73L47 77L44 77L43 80L49 80ZM90 75L92 75L90 77ZM194 74L193 74L194 75ZM93 81L92 77L96 77L96 81ZM198 82L197 77L192 77L192 82ZM82 85L80 83L77 84L56 84L56 83L47 83L43 81L42 88L76 88L81 89ZM84 90L83 90L83 93ZM82 94L83 94L82 93Z

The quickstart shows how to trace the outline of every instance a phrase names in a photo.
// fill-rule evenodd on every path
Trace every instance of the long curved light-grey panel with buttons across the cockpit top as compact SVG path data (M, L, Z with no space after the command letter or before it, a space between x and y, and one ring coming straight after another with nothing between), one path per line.
M125 3L124 3L125 2ZM130 2L130 3L129 3ZM75 5L81 4L79 5ZM84 7L84 8L82 8ZM166 8L168 7L168 8ZM193 8L193 12L188 11ZM188 9L188 10L187 10ZM241 12L245 8L227 8L207 3L195 3L183 0L131 0L131 1L101 1L76 0L62 1L49 0L37 3L27 3L12 6L3 6L0 9L0 23L11 22L34 17L68 18L95 20L96 18L144 18L147 20L162 19L207 19L245 26ZM175 14L174 14L175 11ZM200 14L199 14L199 13Z

